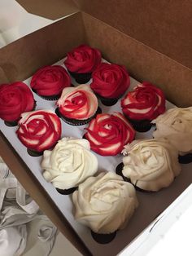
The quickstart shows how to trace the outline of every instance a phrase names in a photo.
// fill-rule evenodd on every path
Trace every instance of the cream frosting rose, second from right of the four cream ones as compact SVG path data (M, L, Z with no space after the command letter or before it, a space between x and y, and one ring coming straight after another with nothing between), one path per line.
M124 147L124 177L138 188L158 191L180 174L178 151L166 139L138 139Z

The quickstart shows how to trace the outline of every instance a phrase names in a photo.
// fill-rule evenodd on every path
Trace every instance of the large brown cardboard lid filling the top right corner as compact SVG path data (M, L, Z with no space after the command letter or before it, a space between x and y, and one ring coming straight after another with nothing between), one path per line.
M90 15L192 68L192 2L74 0Z

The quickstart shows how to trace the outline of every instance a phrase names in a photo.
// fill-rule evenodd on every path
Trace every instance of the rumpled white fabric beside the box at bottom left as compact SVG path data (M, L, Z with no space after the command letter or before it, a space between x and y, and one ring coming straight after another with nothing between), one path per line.
M35 228L34 222L37 223ZM56 232L55 225L41 213L0 157L0 256L25 255L26 244L32 248L31 255L39 248L41 254L38 255L48 256ZM28 236L35 241L33 245L27 241Z

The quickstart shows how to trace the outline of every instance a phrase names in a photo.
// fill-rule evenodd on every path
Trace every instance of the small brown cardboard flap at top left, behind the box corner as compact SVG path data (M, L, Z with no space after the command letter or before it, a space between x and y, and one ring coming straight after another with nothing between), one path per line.
M72 0L16 0L29 13L39 15L50 20L57 20L63 16L79 11Z

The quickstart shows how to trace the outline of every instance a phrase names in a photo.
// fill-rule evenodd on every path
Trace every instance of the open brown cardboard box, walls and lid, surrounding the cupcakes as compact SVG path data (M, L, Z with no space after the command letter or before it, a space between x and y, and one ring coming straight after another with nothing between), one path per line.
M190 2L182 6L179 0L169 4L165 0L155 0L150 4L138 0L18 2L28 4L26 10L52 19L73 14L0 49L1 83L24 81L41 66L54 64L73 47L86 43L100 49L104 59L124 64L137 81L151 81L162 88L172 104L181 107L191 105L192 60L189 53L192 38L190 24L185 23L191 16ZM88 249L81 241L81 233L77 235L33 171L28 169L25 159L21 159L20 152L15 152L2 132L0 135L0 155L41 210L81 254L96 254L97 251L99 255L103 251L103 254L110 252L115 255L145 229L142 236L139 236L138 243L141 243L150 232L151 225L157 221L156 215L172 204L192 180L190 168L183 166L179 179L175 180L168 191L159 192L159 196L153 194L150 198L142 196L138 211L140 214L142 212L143 218L137 221L135 232L120 232L117 235L120 241L118 246L101 245L103 247L95 250L93 243L93 248L89 245ZM151 201L157 203L151 205ZM146 204L149 204L151 214L143 211L146 210ZM134 230L133 223L130 221L131 230Z

